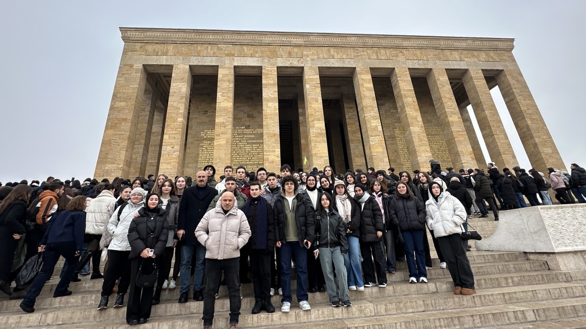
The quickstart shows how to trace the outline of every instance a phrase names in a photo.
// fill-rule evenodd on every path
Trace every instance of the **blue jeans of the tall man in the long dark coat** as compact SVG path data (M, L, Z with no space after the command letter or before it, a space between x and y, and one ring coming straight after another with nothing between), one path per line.
M181 247L181 265L179 275L181 276L181 287L179 293L189 292L191 279L191 258L195 249L195 271L193 272L193 291L203 289L203 273L206 268L206 247L199 242L195 245L183 245ZM219 279L218 279L219 280Z

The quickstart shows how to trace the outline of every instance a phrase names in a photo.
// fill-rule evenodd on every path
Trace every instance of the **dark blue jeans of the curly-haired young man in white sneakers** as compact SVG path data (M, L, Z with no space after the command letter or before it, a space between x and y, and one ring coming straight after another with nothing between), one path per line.
M295 257L297 270L297 301L308 300L307 294L307 249L299 245L298 241L285 242L281 245L281 288L283 298L281 303L293 300L291 296L291 261Z

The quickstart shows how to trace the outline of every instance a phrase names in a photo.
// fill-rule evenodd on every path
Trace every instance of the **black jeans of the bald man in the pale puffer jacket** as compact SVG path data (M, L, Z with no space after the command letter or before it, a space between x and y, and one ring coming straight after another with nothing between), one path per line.
M238 323L240 316L240 257L230 259L206 258L205 290L203 294L203 324L212 325L214 319L214 307L216 303L216 291L219 289L220 280L224 273L226 286L230 296L230 323Z

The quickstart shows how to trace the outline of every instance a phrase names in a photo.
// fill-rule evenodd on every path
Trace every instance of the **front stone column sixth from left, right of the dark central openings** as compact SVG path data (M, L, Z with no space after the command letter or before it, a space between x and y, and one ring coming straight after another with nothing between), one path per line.
M370 68L356 67L352 79L358 104L360 126L362 127L366 165L372 166L376 170L387 170L389 168L389 155L384 143Z

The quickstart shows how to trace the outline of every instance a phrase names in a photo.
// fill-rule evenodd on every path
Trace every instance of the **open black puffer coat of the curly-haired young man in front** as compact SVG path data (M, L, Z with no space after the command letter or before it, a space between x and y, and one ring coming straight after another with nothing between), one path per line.
M315 240L315 211L310 201L307 201L303 194L295 194L297 199L297 209L295 210L295 222L297 222L297 235L299 245L303 246L303 241L307 240L314 243ZM285 223L287 222L287 215L285 215L285 197L279 194L275 198L275 224L277 225L277 241L285 243Z

